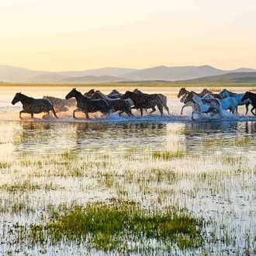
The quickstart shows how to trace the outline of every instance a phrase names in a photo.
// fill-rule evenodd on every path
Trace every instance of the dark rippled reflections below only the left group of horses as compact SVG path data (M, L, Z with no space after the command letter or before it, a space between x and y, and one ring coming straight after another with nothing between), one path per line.
M13 144L16 151L36 153L77 150L88 154L91 150L111 150L137 147L163 147L166 140L164 123L17 123Z

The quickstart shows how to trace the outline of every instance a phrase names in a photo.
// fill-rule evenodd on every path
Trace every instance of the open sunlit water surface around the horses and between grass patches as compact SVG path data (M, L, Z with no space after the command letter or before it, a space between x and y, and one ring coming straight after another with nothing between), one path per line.
M78 88L78 91L87 92L89 89ZM36 178L36 170L26 168L24 163L19 165L21 161L28 161L29 157L39 161L49 157L49 154L61 154L71 150L81 157L78 165L82 161L91 161L93 157L98 159L99 155L108 156L111 163L107 164L106 169L88 170L84 178L50 177L50 182L53 182L57 189L43 193L18 193L12 199L12 193L0 191L2 206L5 205L4 201L9 200L27 200L33 205L33 213L1 213L2 223L35 223L38 221L40 211L49 204L57 206L62 202L72 201L85 203L89 200L105 200L115 196L115 189L99 186L101 172L122 176L126 171L131 171L136 176L147 175L148 168L167 168L178 175L177 181L162 182L160 186L152 182L149 185L152 191L148 195L142 196L142 192L133 182L130 185L125 181L120 183L126 189L128 198L141 202L145 207L178 204L196 216L203 216L206 220L212 221L214 224L206 227L208 237L215 232L218 238L216 244L209 238L204 249L207 254L245 254L246 251L254 253L256 123L251 114L244 116L244 106L239 108L238 116L223 112L222 118L198 116L192 121L191 108L186 108L184 114L180 115L183 104L176 97L178 88L142 90L168 96L171 116L164 112L162 117L158 111L154 114L145 112L141 117L139 112L133 110L134 117L125 114L105 117L95 113L90 115L91 119L85 119L81 113L78 115L79 119L75 120L72 118L71 109L68 112L57 113L59 119L55 119L54 116L42 119L40 114L31 119L28 114L24 114L24 119L20 120L19 111L22 105L17 103L12 106L10 103L15 93L19 91L34 98L52 95L64 99L70 90L71 88L66 87L2 88L0 161L16 164L9 171L5 168L0 169L0 185L11 185L28 179L48 184L49 177L43 177L43 171L58 170L42 169L40 177ZM111 90L112 88L101 88L105 93ZM120 89L121 92L125 90ZM239 92L245 90L240 88ZM156 151L178 149L186 152L182 159L160 161L150 158ZM127 157L126 160L124 156ZM232 161L232 157L237 158ZM163 192L165 190L167 194ZM223 242L223 237L229 237L231 242ZM3 243L0 251L6 253L13 250L13 247L15 245ZM36 252L36 249L24 249L29 250ZM49 255L53 251L56 252L56 248L48 248ZM56 254L68 255L70 247L63 245L63 250L58 248L57 251ZM74 251L79 251L75 245ZM195 251L195 254L200 252L202 251Z

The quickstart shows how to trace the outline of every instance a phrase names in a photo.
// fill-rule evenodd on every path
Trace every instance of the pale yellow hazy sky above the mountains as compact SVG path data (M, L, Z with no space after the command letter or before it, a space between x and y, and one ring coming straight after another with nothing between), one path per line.
M0 64L256 68L255 0L0 0Z

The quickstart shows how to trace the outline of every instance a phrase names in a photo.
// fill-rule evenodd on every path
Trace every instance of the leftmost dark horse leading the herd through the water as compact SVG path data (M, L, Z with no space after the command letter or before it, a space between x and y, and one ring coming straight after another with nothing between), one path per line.
M15 105L17 102L22 102L23 110L19 112L20 119L22 119L21 113L29 113L31 118L33 118L34 114L39 114L41 112L47 112L47 115L50 115L50 111L52 111L54 116L58 118L54 110L54 104L50 102L49 99L34 99L23 95L21 92L17 92L12 99L12 105Z

